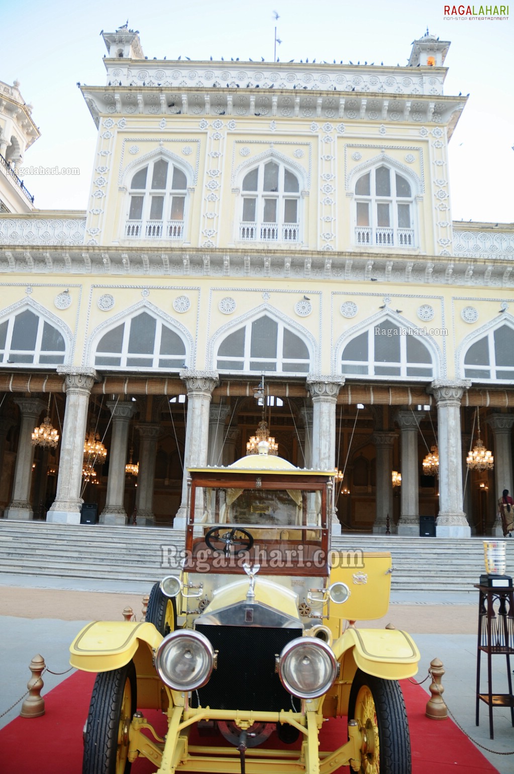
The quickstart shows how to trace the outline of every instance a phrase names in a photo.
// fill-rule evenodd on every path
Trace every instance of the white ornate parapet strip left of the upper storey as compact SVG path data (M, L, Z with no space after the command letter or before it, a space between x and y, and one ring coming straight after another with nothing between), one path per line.
M0 218L0 245L84 245L85 235L85 217Z

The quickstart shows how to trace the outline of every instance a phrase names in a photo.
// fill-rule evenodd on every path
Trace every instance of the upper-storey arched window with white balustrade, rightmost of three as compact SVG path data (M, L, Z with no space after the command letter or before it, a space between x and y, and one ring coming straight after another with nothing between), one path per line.
M389 166L377 166L355 183L355 242L377 247L416 246L411 184Z

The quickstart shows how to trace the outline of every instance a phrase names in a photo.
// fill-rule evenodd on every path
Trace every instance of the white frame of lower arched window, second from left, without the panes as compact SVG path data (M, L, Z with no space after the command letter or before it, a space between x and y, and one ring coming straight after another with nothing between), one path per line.
M138 352L128 351L128 340L130 337L130 326L132 324L132 320L134 320L135 317L139 317L139 315L143 313L146 313L149 317L152 317L154 320L156 320L156 336L153 340L152 354L141 354ZM121 351L99 352L98 344L100 344L103 337L106 334L110 333L111 330L115 330L115 328L120 327L120 325L123 325ZM163 326L166 328L169 328L174 334L176 334L176 336L180 338L180 341L182 341L183 343L184 354L180 354L180 355L159 354L161 338L163 334ZM136 372L146 372L149 370L152 370L152 371L155 370L159 372L180 371L180 369L184 367L184 364L187 363L188 354L189 353L188 353L187 341L184 341L183 336L180 334L178 330L174 329L171 325L167 324L166 321L161 320L158 315L152 314L150 310L139 309L135 311L135 313L131 314L130 317L124 317L122 320L118 320L115 324L111 325L111 327L108 327L107 330L101 331L101 335L98 336L98 339L94 344L93 365L94 365L94 368L97 368L99 371L100 370L108 370L108 371L124 370L124 371L136 371ZM119 358L120 364L119 365L110 365L110 364L97 365L96 358ZM127 365L127 358L147 358L148 360L151 359L151 362L143 365ZM159 360L167 360L167 361L171 361L171 363L169 365L159 366ZM176 361L176 368L174 367L173 361Z

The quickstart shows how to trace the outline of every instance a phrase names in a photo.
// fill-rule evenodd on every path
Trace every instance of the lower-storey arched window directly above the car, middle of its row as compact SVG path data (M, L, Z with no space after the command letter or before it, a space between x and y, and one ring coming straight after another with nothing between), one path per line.
M308 373L310 354L300 336L265 314L221 341L216 368L220 371Z

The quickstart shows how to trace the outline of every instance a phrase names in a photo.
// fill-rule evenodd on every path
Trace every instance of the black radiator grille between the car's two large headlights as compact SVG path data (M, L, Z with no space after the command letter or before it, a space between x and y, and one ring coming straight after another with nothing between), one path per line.
M301 628L196 625L197 632L218 650L218 669L211 680L193 693L192 705L221 710L278 712L290 710L291 694L275 673L275 654L296 637ZM300 700L296 699L300 709Z

